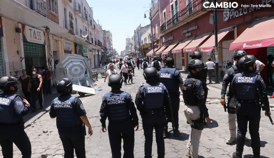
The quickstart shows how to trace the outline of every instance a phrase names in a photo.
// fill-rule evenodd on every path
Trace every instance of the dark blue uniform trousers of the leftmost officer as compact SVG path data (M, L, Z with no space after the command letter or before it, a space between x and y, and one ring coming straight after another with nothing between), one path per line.
M22 153L22 158L31 157L30 139L24 129L16 124L0 124L0 145L3 158L13 157L13 143Z

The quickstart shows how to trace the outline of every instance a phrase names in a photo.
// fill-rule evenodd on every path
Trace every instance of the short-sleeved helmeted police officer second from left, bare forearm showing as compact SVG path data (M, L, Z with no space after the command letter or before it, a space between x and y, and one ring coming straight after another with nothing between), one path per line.
M73 158L74 150L77 158L85 158L85 125L89 128L90 136L93 131L83 103L76 96L70 95L72 84L69 78L58 81L56 90L61 96L52 101L49 115L52 119L56 117L56 126L65 151L64 158Z

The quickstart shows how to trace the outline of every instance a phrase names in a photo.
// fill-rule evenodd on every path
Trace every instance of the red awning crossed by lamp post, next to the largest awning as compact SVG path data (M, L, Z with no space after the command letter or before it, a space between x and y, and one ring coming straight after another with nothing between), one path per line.
M224 36L226 36L226 34L228 32L229 32L229 30L227 30L227 31L218 31L218 42L220 42L221 39ZM209 37L209 39L207 41L204 42L204 44L202 44L199 47L199 50L200 50L200 52L211 52L214 45L215 45L215 35L212 35L211 37Z

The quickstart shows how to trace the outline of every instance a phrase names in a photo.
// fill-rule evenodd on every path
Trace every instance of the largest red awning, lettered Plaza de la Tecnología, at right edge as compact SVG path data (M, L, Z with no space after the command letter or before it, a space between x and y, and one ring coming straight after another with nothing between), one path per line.
M274 46L274 18L253 22L230 44L229 50Z

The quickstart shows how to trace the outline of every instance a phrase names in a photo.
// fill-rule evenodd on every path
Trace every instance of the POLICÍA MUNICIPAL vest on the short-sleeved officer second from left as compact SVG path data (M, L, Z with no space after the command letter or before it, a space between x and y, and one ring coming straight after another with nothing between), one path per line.
M53 100L53 108L56 110L57 128L77 127L82 124L75 110L74 100L76 96L59 96Z

